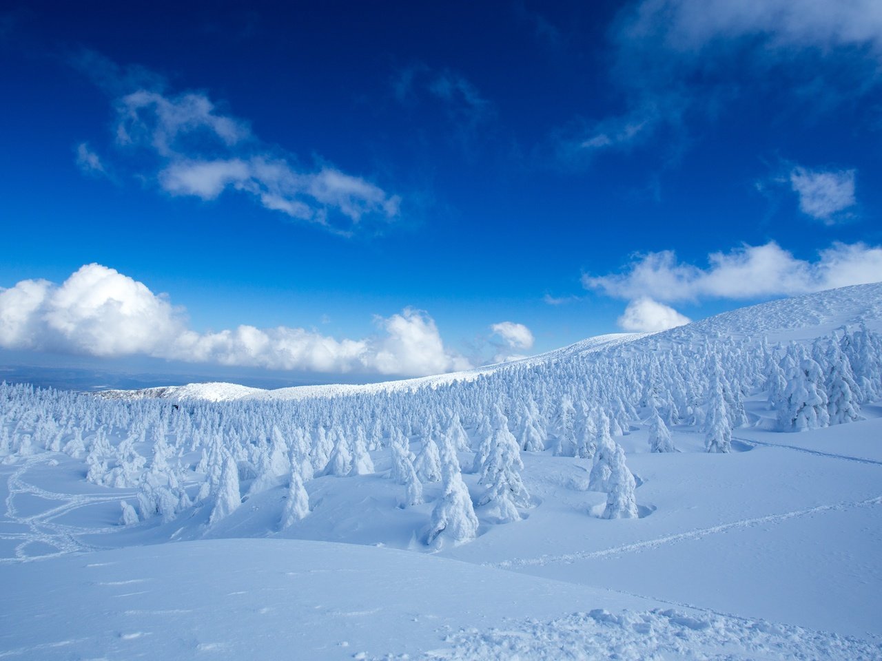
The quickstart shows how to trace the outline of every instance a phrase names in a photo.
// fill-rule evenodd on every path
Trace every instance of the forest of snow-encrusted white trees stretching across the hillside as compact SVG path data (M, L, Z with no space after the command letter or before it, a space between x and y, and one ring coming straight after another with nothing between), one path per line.
M309 515L310 479L377 472L377 462L400 485L400 507L436 494L425 541L440 546L475 537L475 508L489 523L521 517L530 506L522 452L590 461L588 488L607 494L603 516L637 516L614 438L645 421L650 449L670 452L670 427L689 426L708 451L728 452L732 429L748 422L744 398L758 393L782 430L856 420L861 404L882 397L882 339L854 326L812 345L770 346L684 327L470 382L301 401L178 407L3 384L0 458L82 460L89 481L137 492L137 511L123 503L126 523L202 508L213 525L243 499L286 488L281 528ZM474 495L463 472L475 476Z

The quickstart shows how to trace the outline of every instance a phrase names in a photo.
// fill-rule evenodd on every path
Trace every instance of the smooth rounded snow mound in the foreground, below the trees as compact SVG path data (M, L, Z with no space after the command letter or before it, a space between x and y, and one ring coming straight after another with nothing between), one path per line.
M272 539L0 567L4 657L831 659L871 642L365 546ZM63 598L59 598L63 596ZM71 613L76 613L71 616Z

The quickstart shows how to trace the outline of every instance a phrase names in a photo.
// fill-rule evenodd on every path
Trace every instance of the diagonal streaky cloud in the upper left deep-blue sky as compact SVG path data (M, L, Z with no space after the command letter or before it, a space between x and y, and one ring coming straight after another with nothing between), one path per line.
M298 165L293 154L262 142L249 123L223 112L206 93L167 93L161 79L94 54L77 63L116 96L118 151L131 157L137 175L172 196L214 200L238 191L267 210L343 235L384 227L400 215L399 196L324 162ZM93 162L88 154L83 158L86 166Z

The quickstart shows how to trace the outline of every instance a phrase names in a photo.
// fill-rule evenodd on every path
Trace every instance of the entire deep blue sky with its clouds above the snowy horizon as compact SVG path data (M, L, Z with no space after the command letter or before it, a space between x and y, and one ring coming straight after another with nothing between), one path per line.
M420 375L882 279L882 6L0 13L0 362Z

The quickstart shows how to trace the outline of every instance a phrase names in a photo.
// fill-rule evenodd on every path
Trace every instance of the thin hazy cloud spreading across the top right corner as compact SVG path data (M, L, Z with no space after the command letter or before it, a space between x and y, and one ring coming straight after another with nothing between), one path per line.
M744 91L744 71L763 85L774 70L777 85L805 91L814 107L818 85L833 103L865 93L879 79L882 4L641 0L620 13L610 39L609 75L623 108L562 131L558 152L568 159L631 149L665 131L684 136L692 120ZM837 58L853 66L836 68Z

